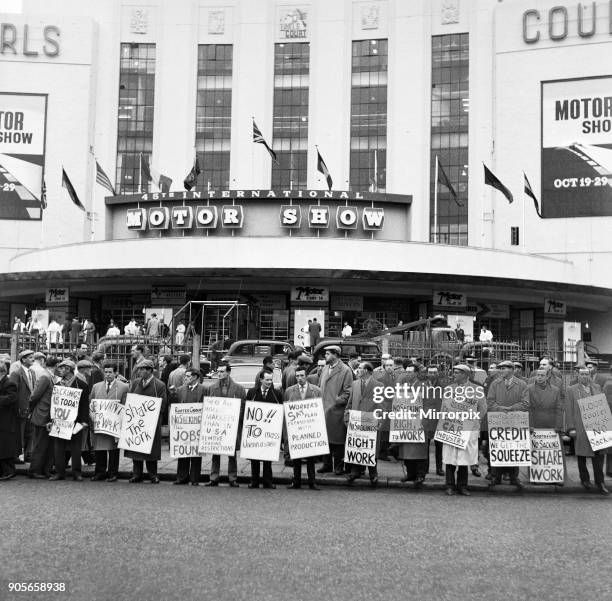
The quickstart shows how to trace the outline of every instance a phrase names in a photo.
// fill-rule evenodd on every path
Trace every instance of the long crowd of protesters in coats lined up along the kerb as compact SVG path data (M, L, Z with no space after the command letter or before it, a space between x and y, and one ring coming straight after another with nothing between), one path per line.
M612 448L601 451L591 449L582 423L578 400L603 392L612 407L612 378L598 373L597 363L577 366L574 377L565 381L550 357L542 357L539 366L527 378L520 363L502 361L489 365L484 382L475 378L473 367L455 364L450 370L438 365L424 365L417 358L405 359L382 356L381 365L374 368L357 356L344 362L339 346L329 346L325 359L313 365L312 357L303 349L289 355L289 363L282 373L280 386L273 383L274 361L264 359L262 369L251 387L243 387L232 379L232 367L221 362L215 378L192 365L190 355L182 354L175 360L165 355L159 366L146 355L143 345L132 349L133 367L131 379L118 371L118 365L105 361L102 352L88 353L86 345L67 358L42 352L23 350L18 360L11 364L8 356L0 356L0 480L15 477L16 463L29 463L27 475L34 479L63 480L67 462L71 462L72 478L83 479L82 463L95 464L92 480L115 482L119 476L120 449L117 439L94 433L90 416L90 399L114 399L125 402L128 392L160 398L162 410L158 419L150 453L125 451L132 459L131 483L142 482L145 465L148 479L158 483L158 462L161 459L162 424L167 423L168 406L172 403L199 403L205 397L230 397L240 399L242 411L246 400L282 404L307 398L321 398L325 409L325 421L330 454L291 460L284 434L285 461L293 466L293 482L289 488L302 486L302 463L306 463L307 485L318 490L316 473L335 473L349 483L365 476L365 468L344 462L347 424L350 410L373 412L376 408L390 410L392 399L377 400L381 387L397 388L407 384L422 389L423 408L439 411L442 399L450 391L472 386L478 397L479 418L470 431L467 445L459 449L434 440L438 420L424 419L424 441L391 443L389 420L382 419L378 426L376 465L368 467L370 485L378 484L378 461L391 457L401 461L405 468L404 482L412 482L419 489L430 471L430 448L435 447L435 466L432 469L445 477L448 495L470 495L468 476L480 478L479 453L487 461L485 478L489 488L495 489L506 481L517 490L523 489L518 468L491 466L488 453L487 412L528 412L530 428L554 430L562 441L571 441L568 454L577 456L580 481L585 489L594 488L608 494L604 481L604 460ZM55 386L81 390L78 416L70 440L49 436L51 427L51 398ZM425 390L432 391L425 393ZM238 428L236 453L240 449L241 428ZM593 481L587 459L591 460ZM321 463L315 471L316 463ZM608 461L608 474L610 474ZM184 458L177 462L174 484L198 485L201 479L202 458ZM221 472L221 456L212 457L212 468L207 486L218 486ZM238 487L236 455L228 458L228 480ZM251 461L249 488L275 488L272 463Z

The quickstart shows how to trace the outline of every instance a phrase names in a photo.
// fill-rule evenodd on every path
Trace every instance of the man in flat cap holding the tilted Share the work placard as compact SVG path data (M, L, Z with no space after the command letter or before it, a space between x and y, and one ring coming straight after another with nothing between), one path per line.
M155 428L155 436L151 452L147 455L136 451L125 451L125 456L133 461L133 474L130 482L142 482L144 462L147 463L147 473L151 478L152 484L159 484L159 476L157 475L157 462L161 459L161 421L162 415L166 410L168 398L166 395L165 384L153 375L153 362L149 359L143 359L138 363L138 377L132 380L130 392L134 394L142 394L161 399L162 406L157 418L157 427Z

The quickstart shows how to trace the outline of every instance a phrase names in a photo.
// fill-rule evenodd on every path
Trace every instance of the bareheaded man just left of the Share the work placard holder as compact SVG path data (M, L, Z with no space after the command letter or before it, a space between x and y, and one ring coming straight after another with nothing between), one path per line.
M121 405L125 405L129 386L117 379L117 364L111 362L105 363L103 374L104 380L93 385L91 391L92 400L117 401ZM94 415L91 415L91 419L92 424L94 424L93 450L96 459L96 467L92 480L116 482L119 475L120 450L117 448L119 432L117 432L117 437L97 433Z

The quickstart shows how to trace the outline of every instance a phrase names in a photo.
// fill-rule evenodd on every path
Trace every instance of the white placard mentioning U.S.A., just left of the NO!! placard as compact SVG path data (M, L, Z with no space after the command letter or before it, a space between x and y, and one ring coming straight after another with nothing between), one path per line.
M204 455L235 455L240 399L205 397L202 409L199 453Z

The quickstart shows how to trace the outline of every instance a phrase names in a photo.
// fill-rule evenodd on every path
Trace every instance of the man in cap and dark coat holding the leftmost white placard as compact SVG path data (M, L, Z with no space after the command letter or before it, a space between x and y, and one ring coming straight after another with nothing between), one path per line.
M53 450L55 455L55 471L56 474L51 476L49 480L65 480L66 479L66 451L70 450L72 460L72 478L78 482L83 480L81 476L81 447L83 444L83 432L88 427L89 421L89 391L87 384L76 377L76 365L70 359L64 359L57 366L57 375L59 381L55 386L65 386L67 388L78 388L81 390L79 398L79 408L75 426L81 424L82 429L76 434L72 434L70 440L63 438L55 438L53 442ZM68 448L67 448L68 447Z

